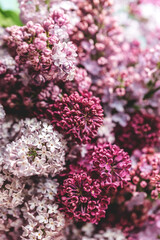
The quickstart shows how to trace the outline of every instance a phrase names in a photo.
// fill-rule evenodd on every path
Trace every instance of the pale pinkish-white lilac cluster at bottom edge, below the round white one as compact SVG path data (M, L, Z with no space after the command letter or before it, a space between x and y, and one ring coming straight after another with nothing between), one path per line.
M52 240L61 234L65 226L63 213L54 203L58 183L53 179L43 179L32 185L28 200L22 208L25 224L22 226L23 240ZM61 239L61 238L60 238Z

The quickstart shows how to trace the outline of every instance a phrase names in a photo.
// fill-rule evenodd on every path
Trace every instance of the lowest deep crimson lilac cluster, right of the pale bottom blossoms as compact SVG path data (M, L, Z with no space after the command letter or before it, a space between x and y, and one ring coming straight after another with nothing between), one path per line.
M110 198L101 188L101 182L90 173L77 167L64 175L58 189L60 210L70 219L80 222L98 223L105 217Z

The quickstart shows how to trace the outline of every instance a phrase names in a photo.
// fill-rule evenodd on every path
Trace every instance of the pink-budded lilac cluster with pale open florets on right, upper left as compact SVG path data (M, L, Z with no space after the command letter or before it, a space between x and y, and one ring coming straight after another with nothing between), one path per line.
M69 23L62 11L54 11L43 22L7 28L5 41L29 81L73 80L76 47L68 41Z

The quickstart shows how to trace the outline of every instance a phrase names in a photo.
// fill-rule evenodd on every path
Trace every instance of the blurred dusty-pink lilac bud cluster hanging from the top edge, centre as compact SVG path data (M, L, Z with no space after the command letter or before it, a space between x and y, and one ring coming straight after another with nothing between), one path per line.
M114 54L119 50L117 41L121 38L121 32L110 14L112 1L75 2L80 21L72 31L71 39L78 46L80 64L97 76L112 64Z

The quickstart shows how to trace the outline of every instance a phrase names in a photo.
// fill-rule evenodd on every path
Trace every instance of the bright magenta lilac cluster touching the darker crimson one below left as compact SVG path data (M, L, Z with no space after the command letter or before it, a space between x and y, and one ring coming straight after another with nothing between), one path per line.
M117 145L99 143L88 146L88 152L81 165L87 165L91 171L99 174L101 185L107 189L123 187L129 180L131 160L128 153Z

